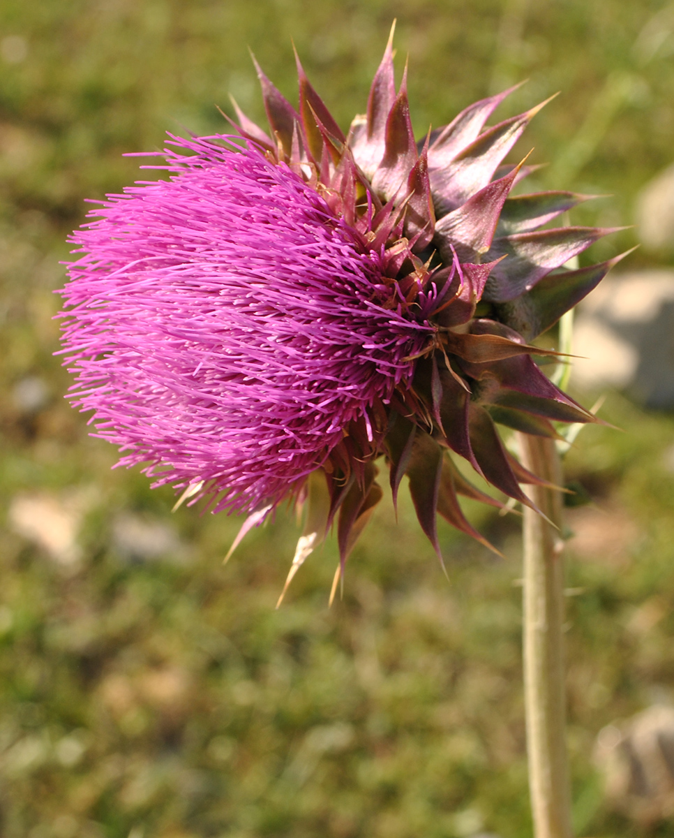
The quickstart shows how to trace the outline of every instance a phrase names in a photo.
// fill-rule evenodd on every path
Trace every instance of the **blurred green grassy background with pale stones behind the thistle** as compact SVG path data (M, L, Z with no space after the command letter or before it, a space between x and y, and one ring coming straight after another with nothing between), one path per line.
M0 2L0 835L530 834L517 517L504 560L382 504L327 597L332 542L275 610L298 525L250 533L111 471L53 353L66 236L139 177L126 151L286 96L294 39L347 127L392 18L416 131L529 79L561 91L513 153L527 189L609 195L579 224L643 242L579 313L574 394L620 430L567 457L569 747L578 835L674 835L674 4L641 0ZM231 112L231 111L230 111ZM142 175L147 178L147 174ZM401 493L404 494L404 493Z

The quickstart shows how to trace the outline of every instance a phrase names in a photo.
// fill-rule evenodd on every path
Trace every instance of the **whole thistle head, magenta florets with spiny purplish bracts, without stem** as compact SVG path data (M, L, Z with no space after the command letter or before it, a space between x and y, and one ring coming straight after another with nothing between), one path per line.
M457 494L501 504L453 458L531 505L520 484L540 481L495 422L594 421L529 341L617 261L563 267L610 230L544 227L584 195L510 197L532 167L502 161L543 105L485 127L505 91L417 142L389 39L345 136L299 59L297 109L257 70L270 132L234 103L235 134L170 137L169 178L108 196L72 237L70 398L120 464L247 513L239 538L308 501L289 579L336 519L343 568L381 457L439 555L437 513L484 541Z

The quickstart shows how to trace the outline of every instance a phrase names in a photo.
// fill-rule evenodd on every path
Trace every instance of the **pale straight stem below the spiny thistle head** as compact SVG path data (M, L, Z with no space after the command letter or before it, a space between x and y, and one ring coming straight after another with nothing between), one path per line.
M523 465L562 482L553 439L518 434ZM571 838L571 793L565 742L563 669L562 498L554 489L527 492L555 526L524 510L524 704L534 838Z

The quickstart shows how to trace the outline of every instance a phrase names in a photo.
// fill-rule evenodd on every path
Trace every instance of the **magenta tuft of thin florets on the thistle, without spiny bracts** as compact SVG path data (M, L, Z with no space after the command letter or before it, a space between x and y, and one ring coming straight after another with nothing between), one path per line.
M73 241L71 398L156 485L275 505L345 429L368 442L434 328L402 313L383 256L286 165L227 137L172 145L174 174L111 196ZM379 442L379 440L378 440Z

